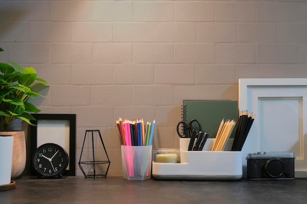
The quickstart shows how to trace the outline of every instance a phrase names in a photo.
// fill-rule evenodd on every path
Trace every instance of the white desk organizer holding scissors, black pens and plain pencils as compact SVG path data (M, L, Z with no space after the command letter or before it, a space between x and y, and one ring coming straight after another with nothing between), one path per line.
M242 178L242 152L210 151L215 138L208 138L203 151L187 151L189 138L180 138L180 163L153 161L157 180L239 180ZM230 150L229 139L225 150Z

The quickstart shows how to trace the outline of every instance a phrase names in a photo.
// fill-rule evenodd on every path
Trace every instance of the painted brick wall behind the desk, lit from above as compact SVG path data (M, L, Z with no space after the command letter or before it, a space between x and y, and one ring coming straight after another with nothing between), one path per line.
M182 100L238 100L239 78L307 78L306 11L302 0L0 0L0 62L36 68L51 87L33 103L77 114L77 157L85 130L100 129L120 176L119 116L155 118L153 148L178 147Z

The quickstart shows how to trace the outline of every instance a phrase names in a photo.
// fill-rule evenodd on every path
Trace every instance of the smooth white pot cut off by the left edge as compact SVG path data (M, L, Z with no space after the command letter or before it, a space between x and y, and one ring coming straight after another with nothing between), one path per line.
M0 135L0 185L11 182L13 143L13 136Z

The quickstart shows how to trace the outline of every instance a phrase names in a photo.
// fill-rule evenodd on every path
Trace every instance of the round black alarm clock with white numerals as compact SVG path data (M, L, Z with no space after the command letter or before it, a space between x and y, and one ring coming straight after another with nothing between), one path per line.
M63 177L68 166L69 157L65 149L54 143L39 146L32 158L33 167L38 177Z

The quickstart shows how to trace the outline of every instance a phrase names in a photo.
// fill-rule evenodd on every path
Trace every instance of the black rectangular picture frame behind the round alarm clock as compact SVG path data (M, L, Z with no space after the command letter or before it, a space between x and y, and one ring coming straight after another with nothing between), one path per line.
M31 126L31 137L30 137L30 153L31 158L33 157L33 154L36 150L38 137L38 128L39 128L39 122L40 120L46 121L46 122L56 122L60 123L60 125L67 126L69 125L69 138L63 138L69 139L69 165L68 168L63 173L64 176L76 176L76 114L41 114L41 113L32 113L31 114L36 120L31 120L31 123L35 126ZM51 121L54 120L54 121ZM62 124L63 121L63 124ZM48 126L48 124L47 124ZM52 127L51 127L52 128ZM61 128L61 127L59 127ZM65 127L64 127L65 128ZM65 136L67 137L67 136ZM48 143L48 141L44 142ZM57 142L52 142L57 143ZM60 145L61 146L61 145ZM65 147L63 147L65 149ZM35 176L37 175L35 169L33 168L32 161L31 161L31 169L30 169L30 175Z

